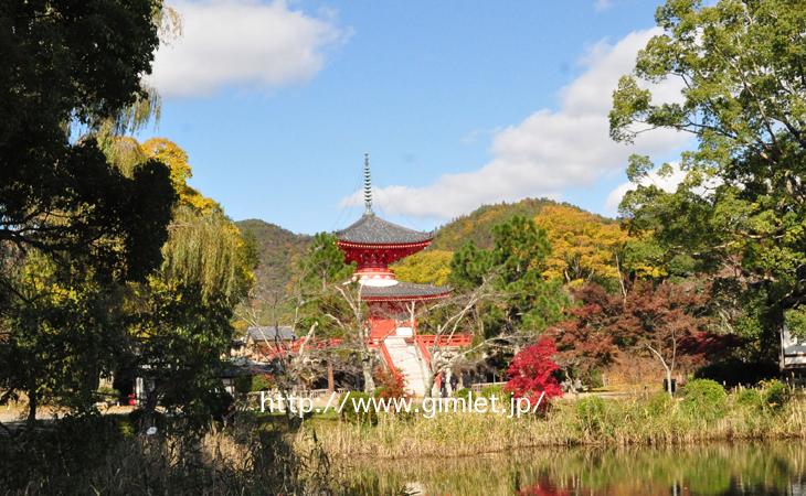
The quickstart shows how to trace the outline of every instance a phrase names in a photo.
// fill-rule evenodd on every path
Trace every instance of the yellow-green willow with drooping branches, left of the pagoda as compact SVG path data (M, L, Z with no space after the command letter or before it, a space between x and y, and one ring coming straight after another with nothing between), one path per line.
M165 138L140 144L112 137L107 153L121 169L159 160L178 192L161 265L131 287L130 342L121 367L152 381L147 410L160 403L206 413L221 399L221 357L231 343L233 309L254 283L256 257L221 206L187 184L192 171L179 145Z

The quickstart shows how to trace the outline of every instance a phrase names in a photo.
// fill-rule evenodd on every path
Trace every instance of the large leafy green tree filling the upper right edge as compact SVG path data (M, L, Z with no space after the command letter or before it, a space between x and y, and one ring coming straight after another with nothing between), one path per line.
M611 134L630 142L668 128L697 147L672 193L643 185L655 164L634 157L637 187L621 212L697 270L749 290L744 300L761 299L762 349L775 349L783 315L806 303L806 1L669 0L656 20L662 33L614 93ZM681 93L658 100L647 83L667 79Z

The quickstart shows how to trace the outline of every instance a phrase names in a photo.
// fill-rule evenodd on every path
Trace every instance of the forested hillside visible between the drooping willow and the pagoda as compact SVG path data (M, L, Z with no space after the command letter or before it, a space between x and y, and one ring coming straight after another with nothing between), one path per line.
M272 292L284 288L291 277L295 257L308 248L311 237L255 218L235 224L244 235L255 239L259 260L255 270L257 288Z

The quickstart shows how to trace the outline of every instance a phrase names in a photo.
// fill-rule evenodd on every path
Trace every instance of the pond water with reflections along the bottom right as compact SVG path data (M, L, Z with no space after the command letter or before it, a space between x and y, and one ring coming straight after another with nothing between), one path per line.
M336 467L364 495L806 496L806 448L776 443L532 449L464 459L351 461Z

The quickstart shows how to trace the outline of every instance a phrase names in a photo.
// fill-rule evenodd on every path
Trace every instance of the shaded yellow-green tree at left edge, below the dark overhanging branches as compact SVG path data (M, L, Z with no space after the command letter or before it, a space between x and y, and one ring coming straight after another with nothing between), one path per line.
M4 313L0 388L28 399L28 421L41 405L87 412L102 376L115 366L125 342L119 287L83 263L55 263L31 251L11 279L17 298Z

